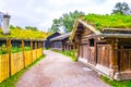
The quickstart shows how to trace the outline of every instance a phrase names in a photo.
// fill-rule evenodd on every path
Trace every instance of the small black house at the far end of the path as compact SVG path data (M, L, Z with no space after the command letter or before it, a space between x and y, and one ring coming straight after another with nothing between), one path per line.
M48 36L47 37L47 39L44 41L44 47L46 48L46 49L48 49L48 48L51 48L51 41L50 41L50 39L51 38L55 38L55 37L57 37L57 36L60 36L61 34L60 33L53 33L52 35L50 35L50 36Z

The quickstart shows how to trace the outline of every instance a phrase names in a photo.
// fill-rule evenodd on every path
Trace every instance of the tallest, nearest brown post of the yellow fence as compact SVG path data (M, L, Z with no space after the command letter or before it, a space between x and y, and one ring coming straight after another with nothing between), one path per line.
M9 53L9 76L11 76L11 39L7 39L7 50Z

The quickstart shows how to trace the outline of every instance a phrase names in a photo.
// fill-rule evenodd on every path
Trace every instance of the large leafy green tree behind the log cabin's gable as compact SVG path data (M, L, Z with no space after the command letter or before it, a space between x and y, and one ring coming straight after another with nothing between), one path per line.
M60 29L63 29L66 33L69 33L73 28L74 21L80 16L84 15L84 12L70 12L64 13L60 18L55 18L50 28L50 32L60 32Z

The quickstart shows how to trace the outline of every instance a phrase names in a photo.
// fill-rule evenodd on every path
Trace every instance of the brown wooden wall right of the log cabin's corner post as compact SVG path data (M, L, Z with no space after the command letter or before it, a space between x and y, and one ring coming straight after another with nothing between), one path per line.
M120 39L118 48L119 71L131 71L131 39Z

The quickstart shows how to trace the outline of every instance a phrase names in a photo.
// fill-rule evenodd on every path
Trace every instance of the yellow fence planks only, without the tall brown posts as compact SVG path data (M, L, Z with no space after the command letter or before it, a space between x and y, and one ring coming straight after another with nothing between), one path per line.
M0 55L0 83L10 77L10 72L11 72L11 76L14 75L25 66L33 63L41 54L43 54L43 48L25 51L24 53L23 52L11 53L11 58L9 58L9 54L1 54ZM11 59L11 66L9 63L9 59ZM9 71L10 67L11 67L11 71Z

